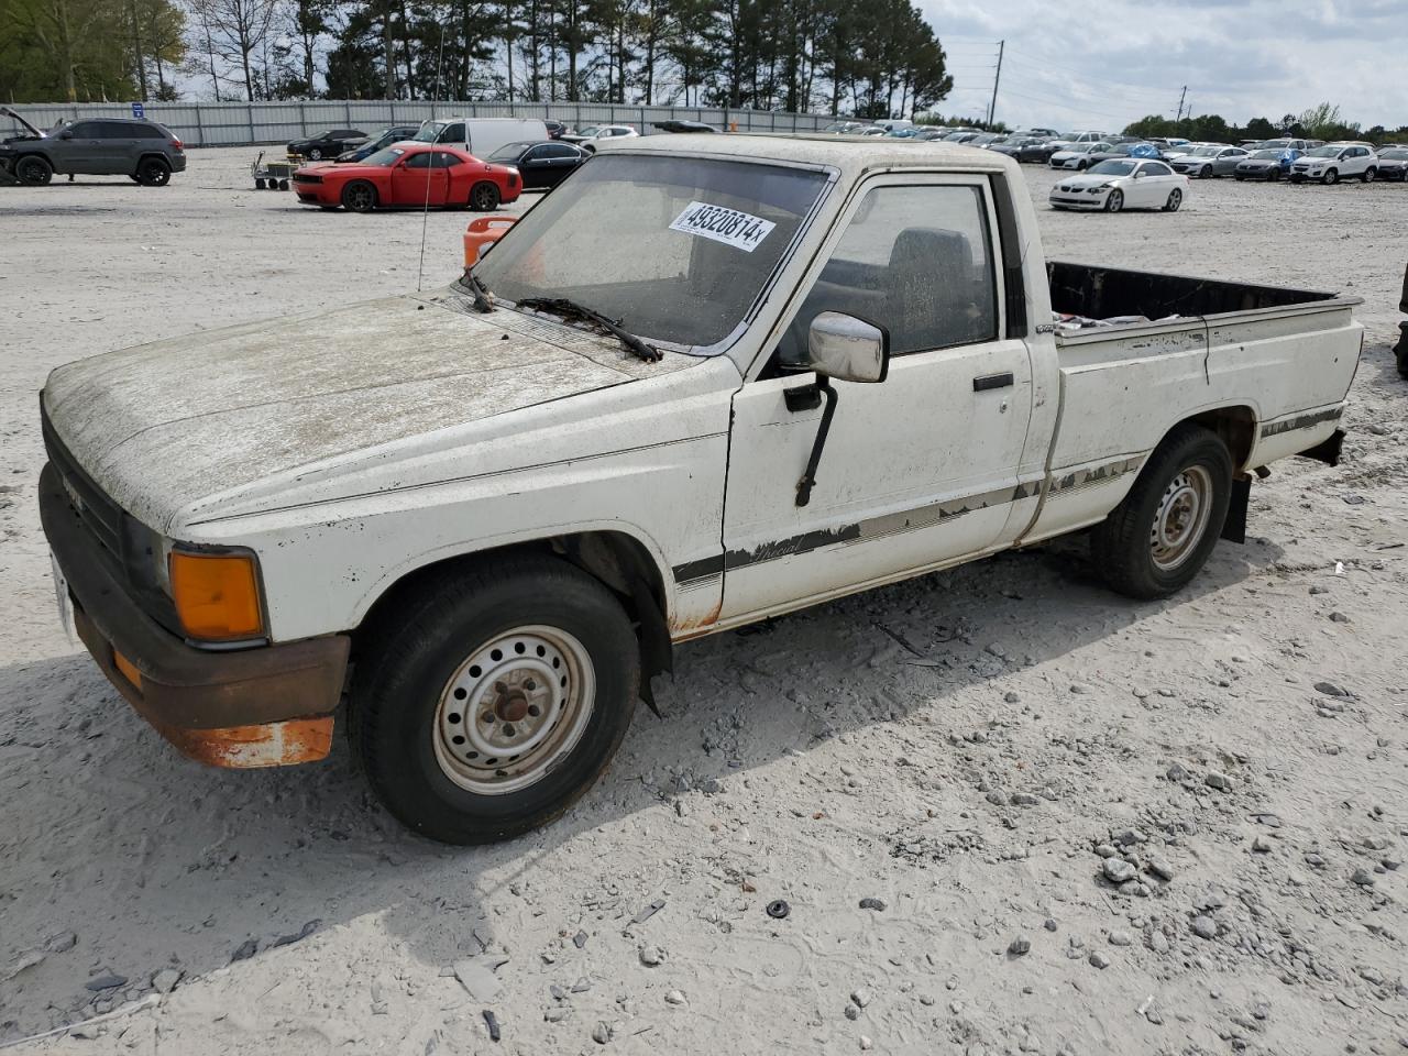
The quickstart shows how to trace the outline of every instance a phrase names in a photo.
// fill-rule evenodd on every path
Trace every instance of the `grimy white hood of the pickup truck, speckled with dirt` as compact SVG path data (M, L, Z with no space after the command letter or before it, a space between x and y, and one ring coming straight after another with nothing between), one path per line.
M327 469L480 418L667 375L615 339L458 287L304 313L93 356L49 375L49 428L156 531L211 496Z

